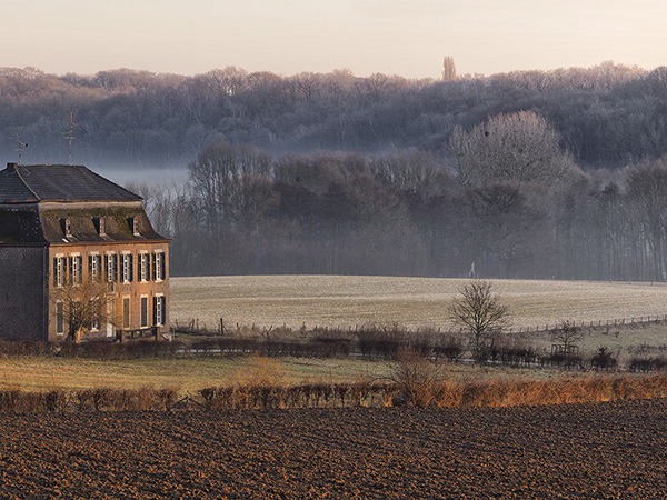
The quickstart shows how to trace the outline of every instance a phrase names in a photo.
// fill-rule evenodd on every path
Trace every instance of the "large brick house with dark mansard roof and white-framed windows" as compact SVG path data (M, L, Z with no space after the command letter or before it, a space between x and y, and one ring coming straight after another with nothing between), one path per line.
M168 306L169 240L139 196L82 166L0 171L0 339L160 338Z

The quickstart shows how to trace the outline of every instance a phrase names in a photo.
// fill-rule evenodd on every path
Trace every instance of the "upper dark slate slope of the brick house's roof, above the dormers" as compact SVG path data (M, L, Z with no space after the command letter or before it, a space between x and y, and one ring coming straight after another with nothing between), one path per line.
M0 171L0 203L141 201L141 197L83 166L8 163Z

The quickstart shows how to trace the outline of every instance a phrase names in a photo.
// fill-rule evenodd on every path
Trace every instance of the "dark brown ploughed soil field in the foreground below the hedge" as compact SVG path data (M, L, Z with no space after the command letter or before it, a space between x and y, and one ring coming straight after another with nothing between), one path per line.
M0 498L665 498L667 400L0 416Z

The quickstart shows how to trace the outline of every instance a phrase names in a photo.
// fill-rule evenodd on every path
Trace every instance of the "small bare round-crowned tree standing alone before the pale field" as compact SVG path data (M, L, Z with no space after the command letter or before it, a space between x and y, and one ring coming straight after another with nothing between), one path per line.
M462 326L470 337L472 356L484 360L487 338L508 326L508 309L492 293L489 281L471 281L460 290L449 307L449 317L455 324Z

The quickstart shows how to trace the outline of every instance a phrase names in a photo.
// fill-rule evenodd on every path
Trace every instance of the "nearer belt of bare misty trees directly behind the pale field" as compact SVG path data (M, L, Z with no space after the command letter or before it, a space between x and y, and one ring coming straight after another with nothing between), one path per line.
M173 239L173 274L664 281L667 156L586 173L551 132L535 113L501 114L458 130L449 160L218 141L188 183L130 189Z

